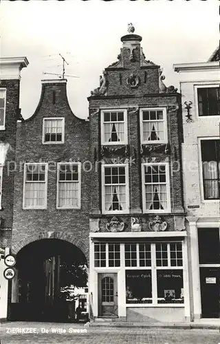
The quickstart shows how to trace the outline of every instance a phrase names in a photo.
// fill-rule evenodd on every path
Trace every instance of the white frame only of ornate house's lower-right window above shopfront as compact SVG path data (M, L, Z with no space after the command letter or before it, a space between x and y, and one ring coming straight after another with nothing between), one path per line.
M145 194L145 174L144 174L144 167L145 166L158 166L158 165L165 165L166 166L166 196L167 196L167 208L162 209L146 209L146 194ZM168 162L143 162L142 163L142 202L143 202L143 212L144 213L170 213L171 206L170 206L170 172L169 172L169 163Z

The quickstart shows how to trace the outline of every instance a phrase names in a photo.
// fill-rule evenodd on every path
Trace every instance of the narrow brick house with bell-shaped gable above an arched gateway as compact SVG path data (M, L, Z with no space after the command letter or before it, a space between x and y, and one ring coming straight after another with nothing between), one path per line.
M62 257L89 262L89 122L72 113L66 86L42 80L36 111L17 121L12 320L65 319Z

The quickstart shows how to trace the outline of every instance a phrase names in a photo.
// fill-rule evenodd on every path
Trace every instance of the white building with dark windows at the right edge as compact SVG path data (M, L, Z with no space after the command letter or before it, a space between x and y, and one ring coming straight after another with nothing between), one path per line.
M219 318L220 72L208 62L174 65L182 96L184 202L190 248L192 319ZM190 108L187 109L188 105Z

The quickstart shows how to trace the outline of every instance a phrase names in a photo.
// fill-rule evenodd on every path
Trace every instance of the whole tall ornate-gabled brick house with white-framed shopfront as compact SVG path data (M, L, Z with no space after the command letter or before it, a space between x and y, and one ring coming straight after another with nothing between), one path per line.
M91 92L91 314L190 318L181 96L131 32Z

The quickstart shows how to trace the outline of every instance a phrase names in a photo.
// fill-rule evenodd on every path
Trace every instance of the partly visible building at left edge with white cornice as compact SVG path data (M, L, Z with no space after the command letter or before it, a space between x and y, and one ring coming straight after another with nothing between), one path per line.
M17 119L21 69L28 66L24 57L0 58L0 247L11 246L14 208L14 160L17 142ZM2 252L4 254L4 250ZM1 256L3 257L3 255ZM5 265L0 259L0 318L7 316L8 281L3 277Z

